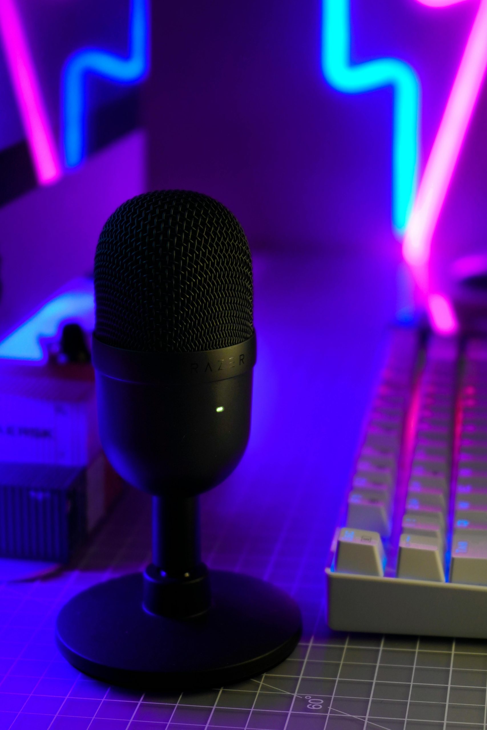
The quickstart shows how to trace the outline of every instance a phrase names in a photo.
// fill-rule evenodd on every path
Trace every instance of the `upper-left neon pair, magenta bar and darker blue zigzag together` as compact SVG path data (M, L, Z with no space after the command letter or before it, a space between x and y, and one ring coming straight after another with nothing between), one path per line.
M99 74L120 83L137 82L147 74L148 1L131 0L128 57L86 49L74 53L66 62L62 107L63 147L68 167L77 166L85 156L87 74ZM15 0L0 0L0 39L37 180L40 185L53 183L63 174L63 166Z

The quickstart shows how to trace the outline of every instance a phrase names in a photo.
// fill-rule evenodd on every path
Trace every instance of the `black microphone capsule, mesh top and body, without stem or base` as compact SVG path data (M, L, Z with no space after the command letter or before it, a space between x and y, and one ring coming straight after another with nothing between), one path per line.
M207 196L123 204L95 256L93 364L101 442L119 474L157 495L201 493L250 433L252 261L241 226Z

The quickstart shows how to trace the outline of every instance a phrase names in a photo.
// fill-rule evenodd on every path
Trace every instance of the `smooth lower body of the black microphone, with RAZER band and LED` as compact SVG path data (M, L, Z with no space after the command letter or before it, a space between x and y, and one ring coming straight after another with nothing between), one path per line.
M93 337L101 443L130 484L186 497L221 483L250 434L256 337L198 353L138 353Z

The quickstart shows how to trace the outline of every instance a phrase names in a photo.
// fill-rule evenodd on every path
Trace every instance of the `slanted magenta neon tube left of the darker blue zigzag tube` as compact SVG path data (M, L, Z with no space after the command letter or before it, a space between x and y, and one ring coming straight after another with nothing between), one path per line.
M37 179L53 183L61 177L61 163L14 0L0 0L0 37Z

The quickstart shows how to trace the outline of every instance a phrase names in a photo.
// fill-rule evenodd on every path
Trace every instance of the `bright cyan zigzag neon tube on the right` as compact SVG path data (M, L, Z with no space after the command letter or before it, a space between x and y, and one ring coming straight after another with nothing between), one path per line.
M321 67L329 84L345 93L394 87L392 220L404 233L418 186L421 85L414 70L396 58L350 65L350 0L323 0Z

